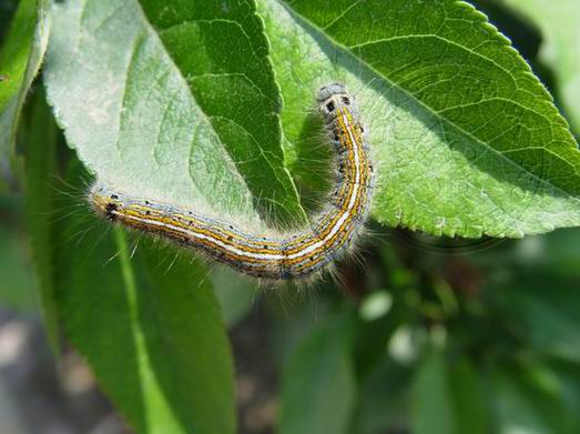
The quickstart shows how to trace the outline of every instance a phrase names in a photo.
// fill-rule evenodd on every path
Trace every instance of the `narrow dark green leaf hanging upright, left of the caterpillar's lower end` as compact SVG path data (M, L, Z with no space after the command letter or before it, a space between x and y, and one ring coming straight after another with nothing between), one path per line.
M59 186L55 182L57 124L43 92L35 94L30 105L30 120L24 129L27 134L23 150L24 219L44 326L53 347L57 349L59 325L54 302L54 262L58 256L54 249L55 233L50 224L57 218L59 195Z

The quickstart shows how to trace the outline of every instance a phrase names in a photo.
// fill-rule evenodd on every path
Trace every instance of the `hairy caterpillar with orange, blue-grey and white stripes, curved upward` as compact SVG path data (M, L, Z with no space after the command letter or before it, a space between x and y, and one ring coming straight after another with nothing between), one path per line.
M89 192L93 210L128 228L193 248L242 273L299 280L340 259L367 219L374 169L355 101L340 83L319 89L318 111L334 148L336 184L323 211L294 233L261 235L171 204L131 198L99 181Z

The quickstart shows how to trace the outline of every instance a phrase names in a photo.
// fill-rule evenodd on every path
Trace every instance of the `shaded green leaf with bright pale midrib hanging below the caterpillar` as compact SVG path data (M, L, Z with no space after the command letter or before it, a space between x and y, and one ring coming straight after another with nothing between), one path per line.
M150 240L132 245L84 206L67 218L75 202L54 229L58 310L102 388L139 433L233 433L233 366L206 271Z

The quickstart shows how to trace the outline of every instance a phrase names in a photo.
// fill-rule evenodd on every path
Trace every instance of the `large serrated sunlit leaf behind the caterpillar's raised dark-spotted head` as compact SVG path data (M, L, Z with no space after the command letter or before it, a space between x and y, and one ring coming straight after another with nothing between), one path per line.
M258 10L301 179L312 159L304 101L342 81L369 127L380 222L470 238L580 224L580 152L567 122L471 6L260 0Z

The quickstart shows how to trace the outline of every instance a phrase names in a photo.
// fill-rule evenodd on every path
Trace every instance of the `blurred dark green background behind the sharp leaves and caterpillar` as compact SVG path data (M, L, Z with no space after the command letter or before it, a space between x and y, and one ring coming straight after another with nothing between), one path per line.
M14 3L0 2L0 38ZM554 69L578 31L559 38L553 14L520 14L518 1L475 3L578 128L571 78ZM256 291L214 271L241 432L580 432L580 230L477 242L370 231L365 265L343 264L344 292ZM0 196L0 433L128 432L74 351L51 354L18 194Z

